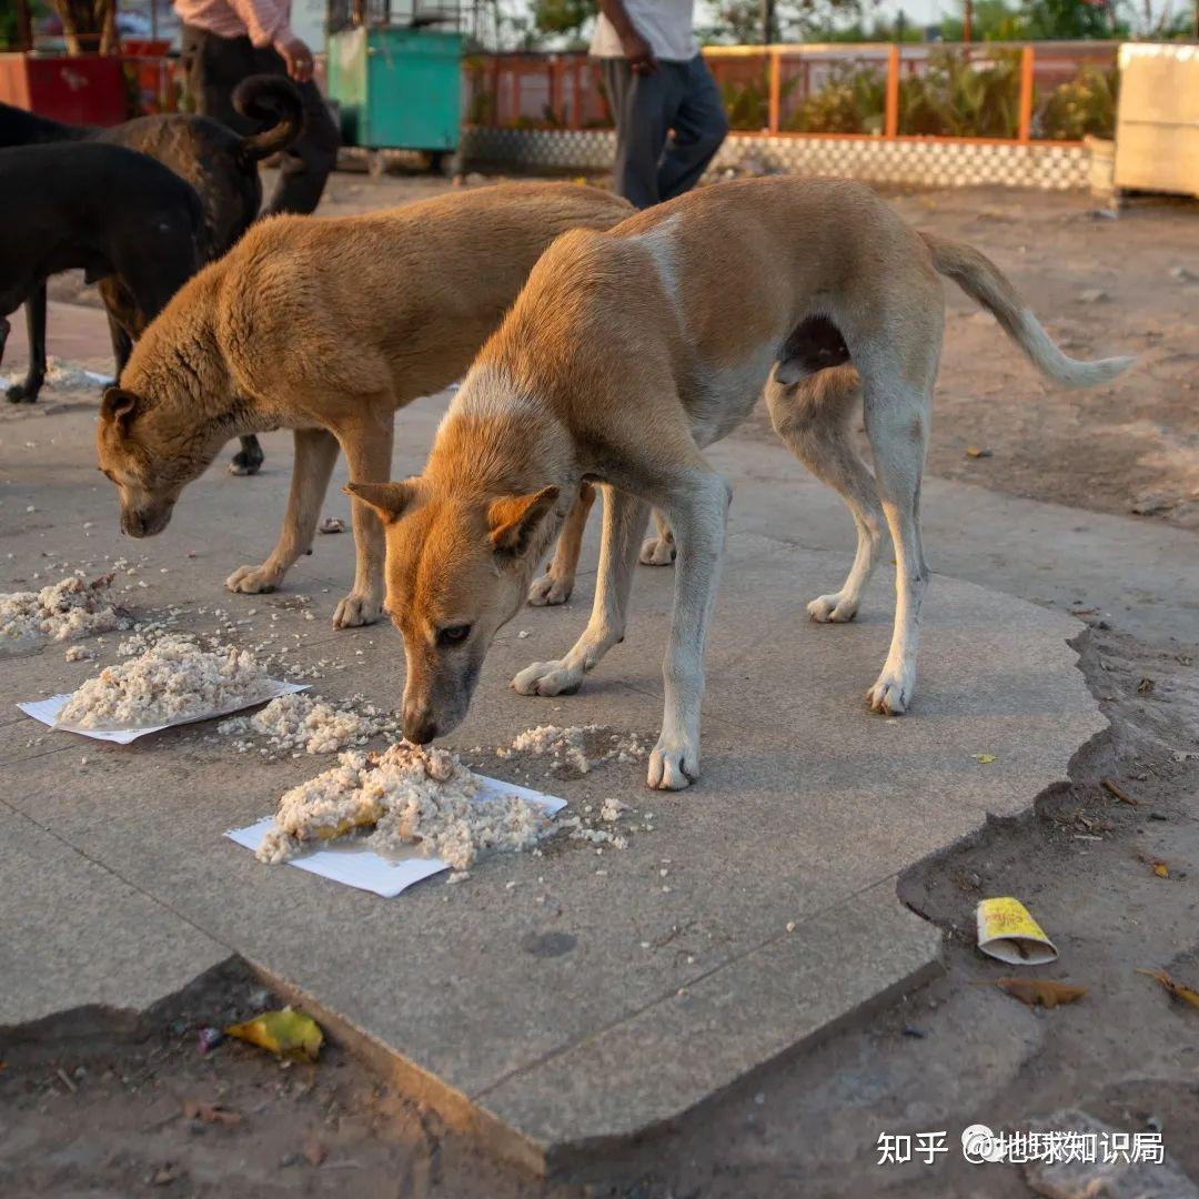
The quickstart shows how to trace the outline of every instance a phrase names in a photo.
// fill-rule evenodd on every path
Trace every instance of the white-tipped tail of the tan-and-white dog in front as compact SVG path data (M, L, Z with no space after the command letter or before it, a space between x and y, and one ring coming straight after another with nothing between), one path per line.
M986 254L960 241L948 241L930 233L921 239L933 254L939 275L953 279L971 300L982 305L1008 337L1047 378L1064 387L1093 387L1127 370L1134 357L1099 359L1083 362L1064 354L1032 315L1006 275Z

